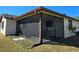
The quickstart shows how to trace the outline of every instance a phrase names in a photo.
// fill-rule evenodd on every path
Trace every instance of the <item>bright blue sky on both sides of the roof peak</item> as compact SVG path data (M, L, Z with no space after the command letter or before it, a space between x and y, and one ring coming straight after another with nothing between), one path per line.
M0 6L0 14L8 13L19 16L37 7L38 6ZM44 6L44 7L72 17L79 16L79 6Z

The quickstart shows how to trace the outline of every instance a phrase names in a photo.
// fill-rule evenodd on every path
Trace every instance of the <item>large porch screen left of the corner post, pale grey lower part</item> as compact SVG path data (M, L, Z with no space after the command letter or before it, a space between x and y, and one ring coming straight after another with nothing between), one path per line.
M39 37L39 19L37 16L31 16L23 19L20 23L22 35L28 38Z

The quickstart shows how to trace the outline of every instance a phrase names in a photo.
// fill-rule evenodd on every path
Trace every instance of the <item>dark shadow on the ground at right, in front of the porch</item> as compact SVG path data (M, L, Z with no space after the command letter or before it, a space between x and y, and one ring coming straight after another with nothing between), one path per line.
M79 36L69 37L66 39L51 39L49 42L45 42L44 44L74 46L79 48Z

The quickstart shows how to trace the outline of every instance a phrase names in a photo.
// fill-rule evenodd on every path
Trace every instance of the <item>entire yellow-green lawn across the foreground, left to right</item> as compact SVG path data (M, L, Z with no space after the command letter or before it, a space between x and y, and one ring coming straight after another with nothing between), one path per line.
M61 44L42 44L40 46L34 48L27 48L27 46L32 45L33 43L29 40L21 41L21 42L14 42L11 38L3 36L0 34L0 51L26 51L26 52L76 52L79 51L78 47L74 46L66 46Z

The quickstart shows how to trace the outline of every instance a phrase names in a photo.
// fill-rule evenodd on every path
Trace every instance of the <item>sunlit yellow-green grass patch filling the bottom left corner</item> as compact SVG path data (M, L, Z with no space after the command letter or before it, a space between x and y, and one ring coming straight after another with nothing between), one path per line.
M0 34L0 51L25 51L19 45L16 45L10 38Z

